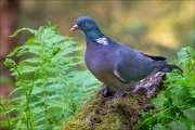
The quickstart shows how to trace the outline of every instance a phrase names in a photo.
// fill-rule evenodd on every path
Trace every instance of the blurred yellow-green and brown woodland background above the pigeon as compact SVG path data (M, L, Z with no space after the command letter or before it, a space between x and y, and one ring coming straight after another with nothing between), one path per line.
M108 37L144 53L172 60L180 48L194 46L194 0L22 0L20 27L50 21L62 35L84 42L82 32L69 32L82 15L92 16Z

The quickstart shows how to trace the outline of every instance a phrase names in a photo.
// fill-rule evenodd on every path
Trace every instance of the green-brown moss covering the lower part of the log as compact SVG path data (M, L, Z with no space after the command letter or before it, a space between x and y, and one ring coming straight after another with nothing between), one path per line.
M138 101L132 94L118 99L95 94L62 129L122 130L132 117L138 117L139 109Z

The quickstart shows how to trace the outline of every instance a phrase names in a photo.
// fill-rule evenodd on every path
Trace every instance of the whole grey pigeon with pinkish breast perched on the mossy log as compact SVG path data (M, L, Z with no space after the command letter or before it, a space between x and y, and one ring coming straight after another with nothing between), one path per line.
M166 57L143 54L107 36L92 17L80 16L70 31L80 29L86 35L84 62L100 81L119 96L130 91L134 83L157 72L180 69L166 62Z

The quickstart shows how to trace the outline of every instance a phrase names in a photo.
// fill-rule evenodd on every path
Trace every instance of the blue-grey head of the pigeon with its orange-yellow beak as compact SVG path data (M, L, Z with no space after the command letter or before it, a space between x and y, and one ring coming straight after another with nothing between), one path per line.
M84 34L89 31L100 31L96 23L92 17L89 16L80 16L77 21L75 26L70 29L70 31L81 29Z

